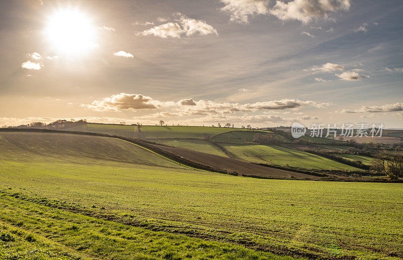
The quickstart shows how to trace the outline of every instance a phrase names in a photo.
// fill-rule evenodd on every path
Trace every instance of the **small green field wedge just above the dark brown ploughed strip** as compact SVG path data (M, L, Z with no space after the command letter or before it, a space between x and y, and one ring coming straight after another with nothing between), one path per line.
M220 148L203 140L158 140L156 142L163 145L227 157Z

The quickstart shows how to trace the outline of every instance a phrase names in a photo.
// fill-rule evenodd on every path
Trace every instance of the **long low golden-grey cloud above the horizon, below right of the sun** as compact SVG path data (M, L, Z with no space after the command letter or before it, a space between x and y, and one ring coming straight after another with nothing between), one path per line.
M140 109L156 109L161 106L169 106L173 104L174 102L164 103L141 94L120 93L102 98L102 100L95 100L91 104L82 104L81 106L94 111L133 111Z

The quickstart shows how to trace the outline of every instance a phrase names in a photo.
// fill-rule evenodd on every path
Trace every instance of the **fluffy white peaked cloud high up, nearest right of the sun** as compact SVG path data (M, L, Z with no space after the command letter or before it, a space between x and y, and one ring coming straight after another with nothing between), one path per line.
M143 32L136 33L137 35L154 35L162 38L180 38L183 34L186 36L192 35L218 35L217 30L213 26L206 23L203 20L196 20L188 18L187 16L176 14L180 16L179 19L175 19L175 23L169 22L166 24L158 25Z

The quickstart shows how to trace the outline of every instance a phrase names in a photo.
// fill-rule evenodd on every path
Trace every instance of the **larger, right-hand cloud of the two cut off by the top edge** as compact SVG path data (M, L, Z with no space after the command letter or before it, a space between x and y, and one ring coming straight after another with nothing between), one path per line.
M311 20L327 19L330 13L349 9L350 0L293 0L287 3L276 1L270 13L283 21L309 23Z

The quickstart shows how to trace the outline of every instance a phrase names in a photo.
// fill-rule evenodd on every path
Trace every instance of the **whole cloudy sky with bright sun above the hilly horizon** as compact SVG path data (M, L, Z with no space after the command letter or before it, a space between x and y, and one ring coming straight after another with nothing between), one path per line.
M403 127L401 0L0 1L0 126Z

